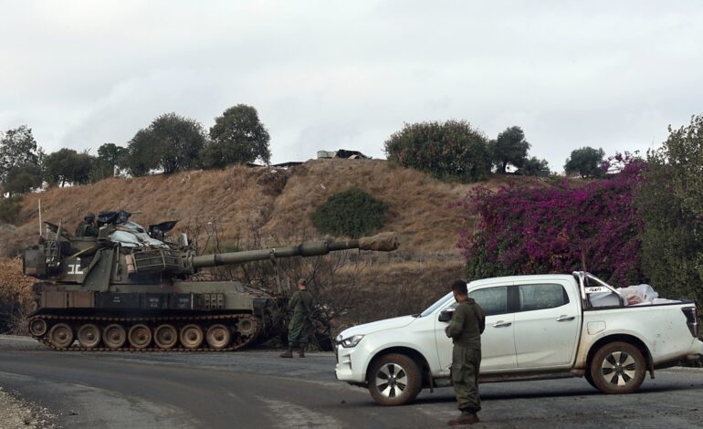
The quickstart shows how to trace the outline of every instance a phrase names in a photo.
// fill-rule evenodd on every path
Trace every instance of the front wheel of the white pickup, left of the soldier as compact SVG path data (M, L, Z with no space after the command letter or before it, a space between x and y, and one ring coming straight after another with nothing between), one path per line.
M412 402L422 390L417 364L404 354L386 354L374 361L369 372L369 392L382 405Z

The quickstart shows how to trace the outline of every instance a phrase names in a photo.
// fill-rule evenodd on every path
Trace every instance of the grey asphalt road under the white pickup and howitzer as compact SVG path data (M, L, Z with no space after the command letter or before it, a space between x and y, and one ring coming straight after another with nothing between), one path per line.
M65 428L427 428L457 414L450 388L382 407L335 380L331 354L278 353L58 352L0 336L0 387L46 406ZM473 427L703 425L701 370L657 371L629 395L603 395L582 379L482 384L480 392L483 422Z

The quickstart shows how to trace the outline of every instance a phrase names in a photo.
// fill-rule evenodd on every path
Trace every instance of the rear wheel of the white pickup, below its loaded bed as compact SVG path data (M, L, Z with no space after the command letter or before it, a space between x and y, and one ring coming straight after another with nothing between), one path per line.
M605 344L593 355L591 379L601 392L635 392L645 381L645 357L627 342Z

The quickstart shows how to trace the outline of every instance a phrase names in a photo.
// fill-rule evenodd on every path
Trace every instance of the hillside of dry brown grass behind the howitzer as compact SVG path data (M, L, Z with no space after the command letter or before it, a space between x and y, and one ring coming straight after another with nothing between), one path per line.
M496 188L515 180L498 176L481 184ZM337 284L355 287L339 303L344 319L358 322L422 309L462 276L464 261L456 242L464 214L449 204L472 185L439 182L381 160L317 160L289 170L236 166L53 188L26 195L16 225L0 226L0 253L16 255L36 242L39 199L42 219L62 222L70 232L87 211L125 209L145 226L180 220L175 232L188 232L201 252L215 245L228 250L295 244L320 238L310 214L352 186L388 204L383 229L399 233L401 247L393 254L350 257L337 264ZM19 269L18 264L11 267ZM289 277L298 275L293 270ZM339 293L331 295L339 300ZM388 302L382 298L393 298L393 305L382 305Z

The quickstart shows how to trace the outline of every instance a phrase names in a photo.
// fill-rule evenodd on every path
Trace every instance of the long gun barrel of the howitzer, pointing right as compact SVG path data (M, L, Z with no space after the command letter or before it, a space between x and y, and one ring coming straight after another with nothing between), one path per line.
M269 249L247 250L204 256L193 256L194 268L217 267L222 265L243 264L252 261L275 259L292 256L322 256L330 252L347 249L375 250L391 252L398 248L398 235L381 233L359 239L341 241L306 241L298 246L274 247Z

